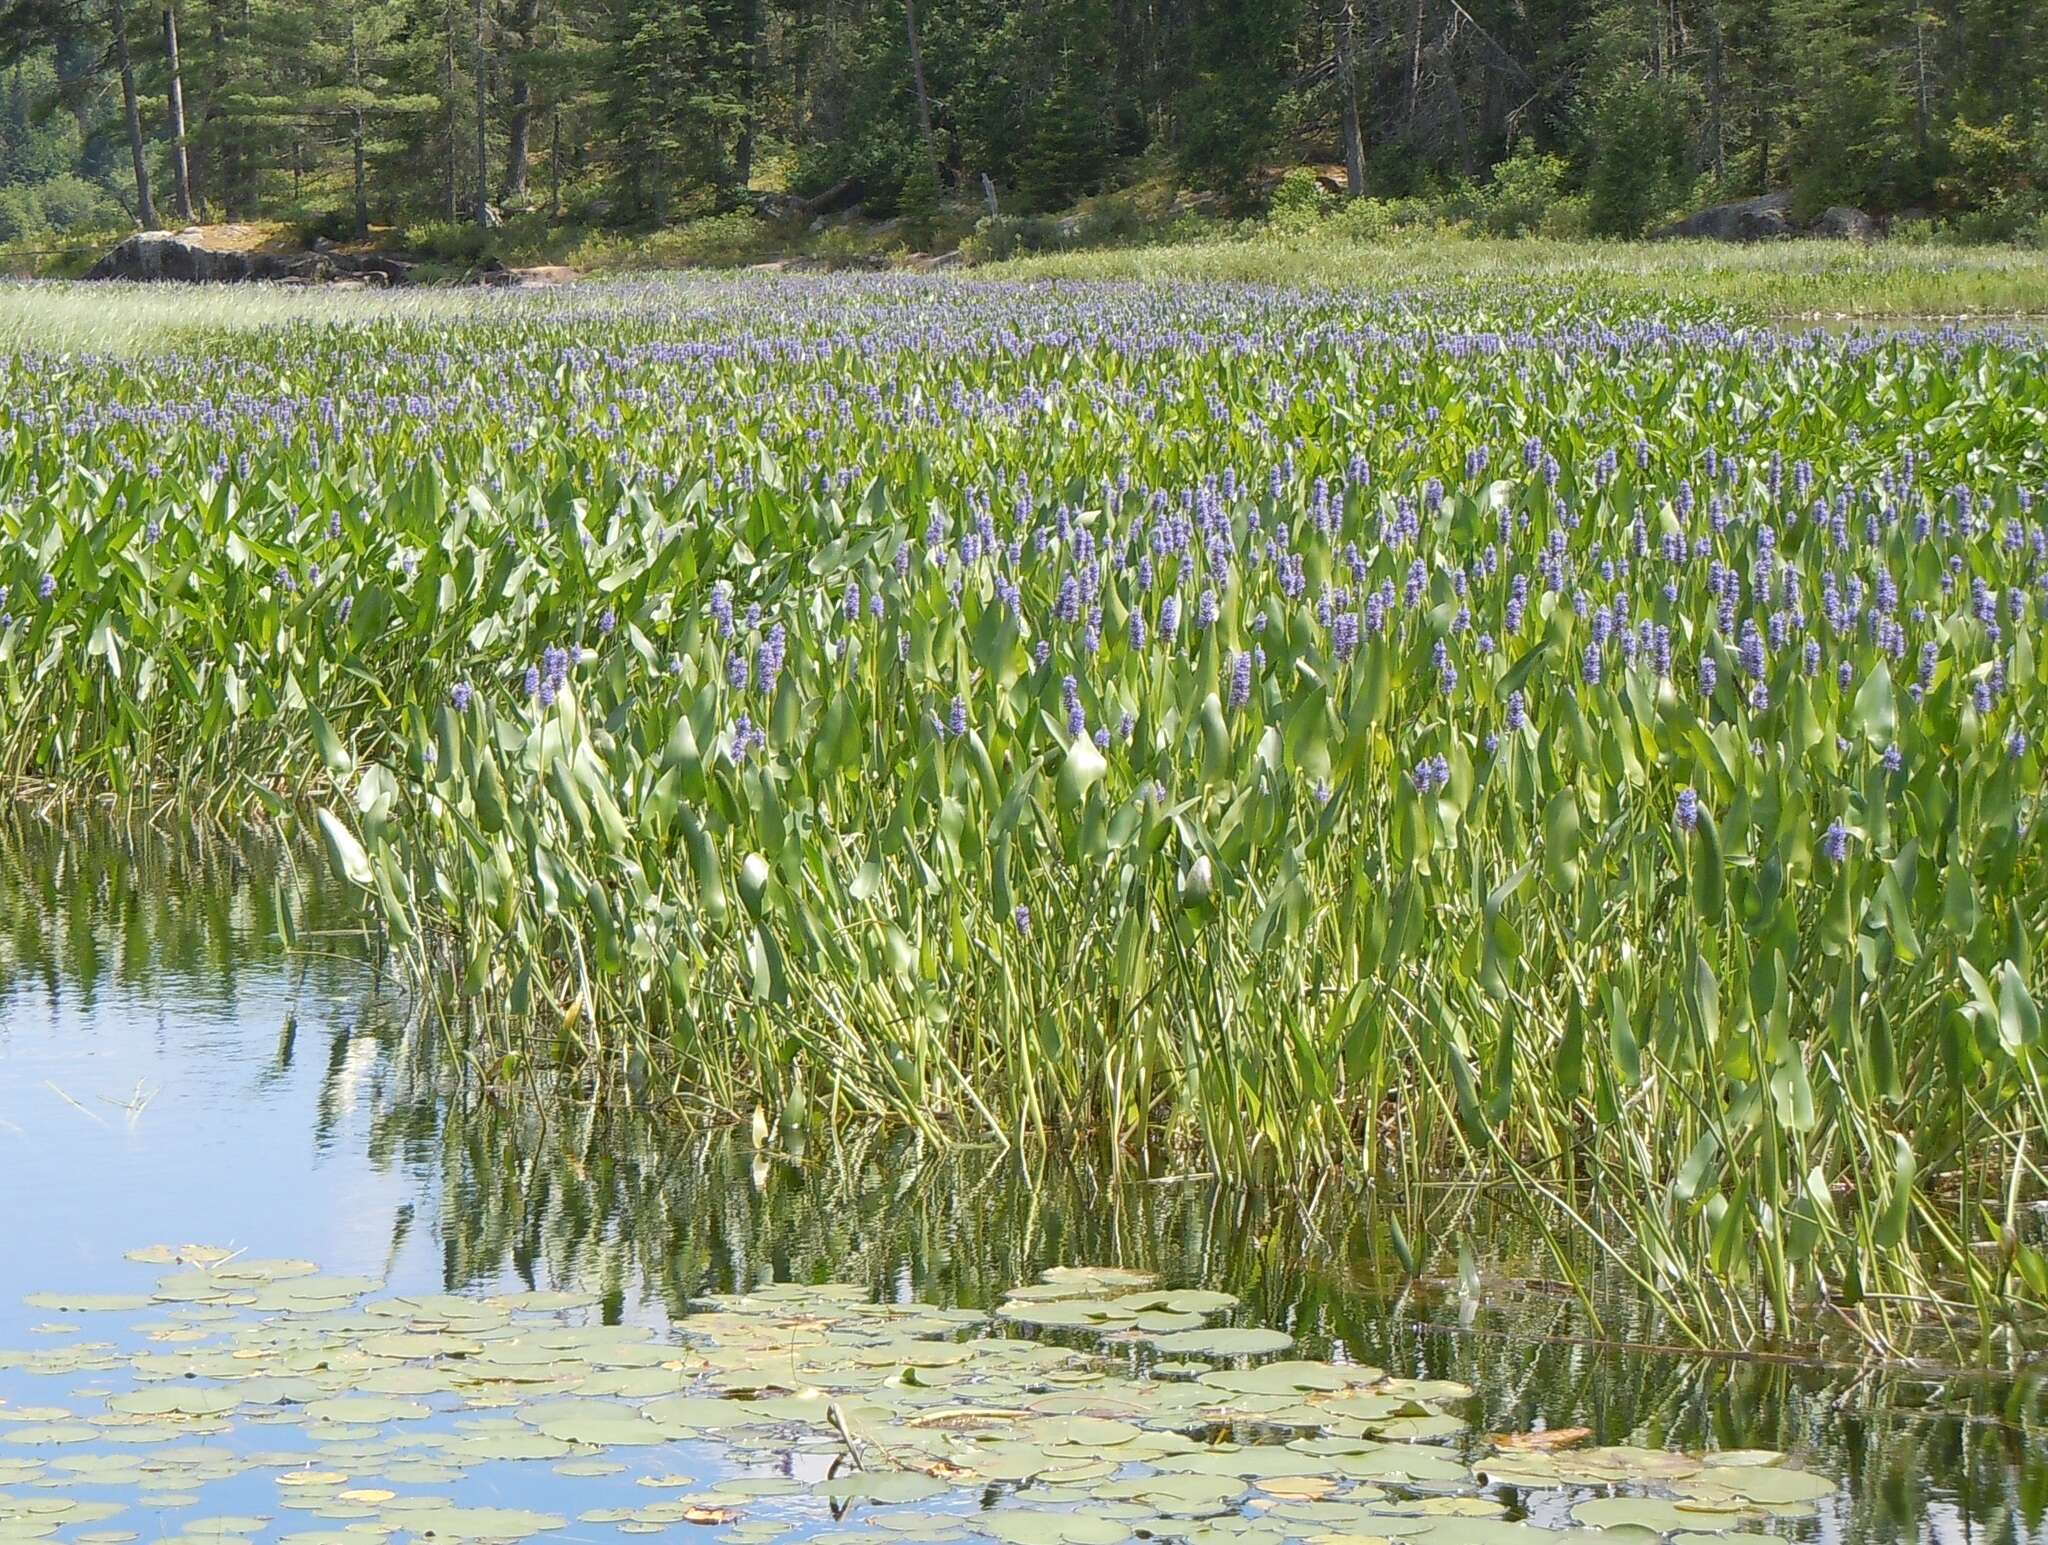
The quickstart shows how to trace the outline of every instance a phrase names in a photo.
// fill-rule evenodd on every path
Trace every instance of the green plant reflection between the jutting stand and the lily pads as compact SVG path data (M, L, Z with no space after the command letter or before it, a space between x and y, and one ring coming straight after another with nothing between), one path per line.
M1047 1264L1116 1262L1245 1299L1321 1354L1479 1389L1479 1430L1593 1428L1602 1443L1765 1447L1825 1455L1855 1500L1849 1539L1913 1535L1950 1504L2019 1537L2048 1498L2048 1383L2038 1377L1858 1377L1841 1365L1692 1356L1651 1305L1602 1283L1606 1338L1556 1285L1516 1275L1534 1242L1513 1219L1444 1199L1489 1270L1391 1283L1368 1195L1313 1209L1212 1182L1112 1182L1085 1164L1024 1170L981 1154L850 1139L805 1166L741 1139L657 1131L631 1115L422 1100L373 1139L387 1160L440 1162L446 1287L504 1272L594 1287L610 1316L670 1313L762 1281L854 1281L881 1297L989 1307ZM1450 1225L1446 1217L1442 1225ZM2032 1445L2032 1449L2030 1449ZM2025 1520L2025 1522L2023 1522Z

